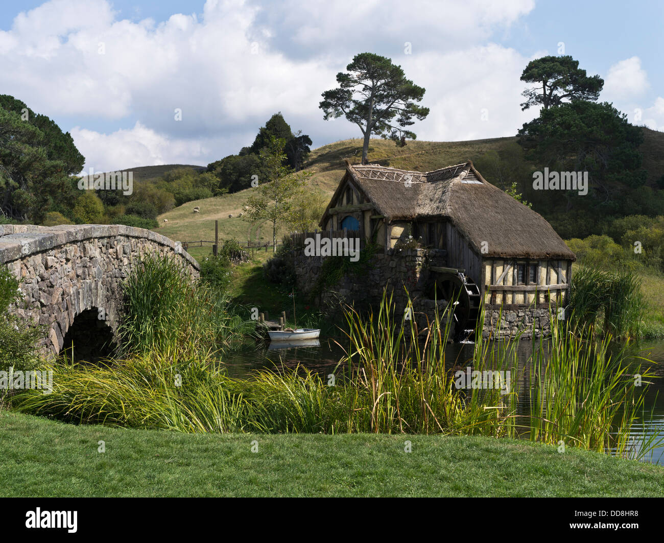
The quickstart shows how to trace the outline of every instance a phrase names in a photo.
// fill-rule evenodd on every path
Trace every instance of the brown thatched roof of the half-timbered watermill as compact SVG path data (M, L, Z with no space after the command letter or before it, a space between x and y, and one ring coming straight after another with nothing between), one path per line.
M446 218L477 253L482 254L482 242L488 243L489 251L483 256L576 260L544 217L488 183L470 161L426 173L348 161L346 169L344 179L387 220ZM330 206L339 197L341 185ZM326 210L321 224L327 215Z

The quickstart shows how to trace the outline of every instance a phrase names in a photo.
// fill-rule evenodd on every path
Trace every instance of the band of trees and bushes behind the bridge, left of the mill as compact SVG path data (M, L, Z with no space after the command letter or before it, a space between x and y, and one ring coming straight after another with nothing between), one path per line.
M156 179L134 179L133 193L127 195L119 190L80 191L76 174L85 159L70 133L21 100L0 95L0 222L155 228L157 215L175 206L246 189L252 179L268 179L272 166L266 150L273 139L283 143L280 165L301 170L311 138L293 133L278 113L260 128L250 147L210 164L207 171L176 168Z

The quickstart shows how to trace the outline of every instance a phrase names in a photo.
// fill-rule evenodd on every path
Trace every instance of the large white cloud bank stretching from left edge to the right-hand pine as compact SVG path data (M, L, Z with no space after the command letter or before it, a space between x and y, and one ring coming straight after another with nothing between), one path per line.
M208 0L202 15L157 24L118 20L107 0L51 0L0 31L0 85L37 112L77 119L72 137L96 169L207 164L250 145L278 111L314 145L359 137L343 119L323 121L318 103L363 50L426 88L420 139L508 135L533 116L519 108L528 59L487 41L531 9L532 0ZM109 129L92 131L89 119ZM127 121L133 128L115 130Z

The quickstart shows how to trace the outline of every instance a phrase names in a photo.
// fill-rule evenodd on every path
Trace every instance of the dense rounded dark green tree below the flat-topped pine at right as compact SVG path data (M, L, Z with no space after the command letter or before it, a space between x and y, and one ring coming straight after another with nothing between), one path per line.
M600 233L598 214L615 217L633 212L627 208L631 205L627 196L639 198L633 193L646 179L638 149L642 141L641 128L629 124L625 114L606 102L576 101L542 109L537 119L523 125L519 144L527 152L527 159L540 170L548 167L555 171L588 172L590 186L586 195L578 191L533 191L548 193L537 194L537 200L539 206L548 204L542 206L548 208L546 218L559 216L552 220L554 228L565 228L565 221L568 228L578 225L572 235L558 230L562 236ZM578 222L584 218L590 222Z

